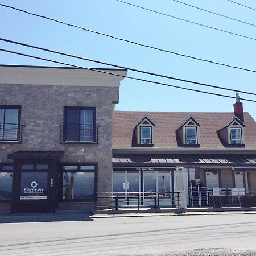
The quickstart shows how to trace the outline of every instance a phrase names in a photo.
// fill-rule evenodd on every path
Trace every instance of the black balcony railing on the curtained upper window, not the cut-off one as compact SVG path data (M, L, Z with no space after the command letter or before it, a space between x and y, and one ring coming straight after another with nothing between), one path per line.
M60 125L60 143L98 144L98 125Z

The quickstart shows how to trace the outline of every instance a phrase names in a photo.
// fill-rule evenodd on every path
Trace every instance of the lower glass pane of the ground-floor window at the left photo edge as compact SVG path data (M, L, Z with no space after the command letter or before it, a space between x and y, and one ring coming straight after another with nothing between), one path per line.
M12 172L0 172L0 200L11 200Z

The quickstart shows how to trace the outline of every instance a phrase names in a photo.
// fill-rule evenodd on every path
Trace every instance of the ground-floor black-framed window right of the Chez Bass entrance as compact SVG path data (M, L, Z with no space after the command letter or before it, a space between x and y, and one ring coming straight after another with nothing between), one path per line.
M62 200L95 200L97 191L96 164L64 164L62 170Z

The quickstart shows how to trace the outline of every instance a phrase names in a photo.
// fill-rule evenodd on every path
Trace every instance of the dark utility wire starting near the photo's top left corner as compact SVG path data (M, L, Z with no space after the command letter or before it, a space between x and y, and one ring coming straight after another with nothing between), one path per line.
M133 42L133 41L131 41L131 40L122 39L122 38L117 38L116 36L104 34L104 33L97 32L97 31L93 31L93 30L89 30L88 28L84 28L84 27L76 26L76 25L74 25L74 24L69 24L69 23L66 23L66 22L62 22L62 21L60 21L60 20L52 19L52 18L49 18L49 17L47 17L47 16L43 16L43 15L39 15L39 14L35 14L35 13L29 13L28 11L24 11L24 10L21 10L21 9L12 7L12 6L3 5L2 3L0 3L0 6L7 7L7 8L10 8L10 9L14 9L14 10L17 10L17 11L21 11L22 13L26 13L26 14L29 14L29 15L38 16L39 18L52 20L53 22L57 22L57 23L60 23L60 24L64 24L64 25L67 25L67 26L70 26L70 27L80 28L81 30L85 30L85 31L88 31L88 32L92 32L92 33L94 33L94 34L103 35L103 36L108 36L109 38L113 38L113 39L117 39L117 40L120 40L120 41L123 41L123 42L135 44L135 45L137 45L137 46L142 46L142 47L146 47L146 48L150 48L150 49L155 49L156 51L167 52L167 53L171 53L171 54L174 54L174 55L177 55L177 56L181 56L181 57L188 57L188 58L193 59L193 60L200 60L200 61L205 61L205 62L207 62L207 63L222 65L222 66L224 66L224 67L241 69L241 70L243 70L243 71L256 72L256 71L253 70L253 69L241 68L241 67L236 67L236 66L234 66L234 65L229 65L229 64L224 64L224 63L218 63L218 62L212 61L212 60L205 60L205 59L201 59L201 58L198 58L198 57L193 57L193 56L189 56L189 55L184 55L184 54L182 54L182 53L177 53L177 52L173 52L173 51L168 51L167 49L161 49L161 48L158 48L158 47L148 46L148 45L146 45L146 44L141 44L141 43Z

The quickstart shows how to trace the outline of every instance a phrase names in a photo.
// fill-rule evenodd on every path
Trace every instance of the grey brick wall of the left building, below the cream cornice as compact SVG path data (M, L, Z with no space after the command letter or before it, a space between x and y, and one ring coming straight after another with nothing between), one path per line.
M112 191L112 102L118 87L0 84L0 105L21 105L22 144L0 142L0 159L15 151L64 151L60 162L97 162L98 191ZM99 144L60 144L64 106L96 107ZM84 151L82 151L84 149Z

